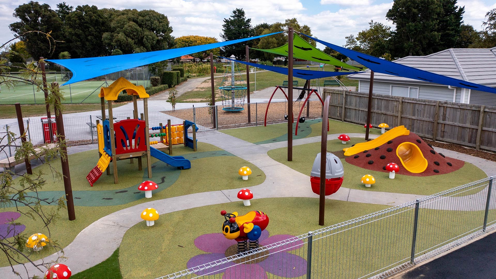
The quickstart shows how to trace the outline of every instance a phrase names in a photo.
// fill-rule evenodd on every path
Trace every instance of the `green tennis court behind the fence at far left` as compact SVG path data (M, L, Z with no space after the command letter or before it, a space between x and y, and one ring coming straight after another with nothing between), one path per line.
M47 72L47 82L49 84L54 81L63 84L67 79L68 76L66 72ZM144 87L150 86L148 76L146 76L146 78L138 76L138 79L130 79L129 81L136 85L143 85ZM98 78L98 80L84 80L61 86L61 92L65 98L65 100L62 100L62 103L100 103L100 98L98 98L100 88L109 86L112 82L114 82L114 80L105 80L105 77L103 77ZM24 85L21 82L16 82L16 85L13 87L7 87L5 85L0 86L0 105L14 103L44 104L45 93L42 90L39 90L35 85Z

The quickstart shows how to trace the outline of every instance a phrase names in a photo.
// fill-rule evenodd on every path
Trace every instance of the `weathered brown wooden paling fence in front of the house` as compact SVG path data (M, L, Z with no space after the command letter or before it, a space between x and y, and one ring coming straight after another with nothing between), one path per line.
M324 88L329 118L365 124L368 93ZM496 151L496 107L373 94L371 123L404 125L421 137Z

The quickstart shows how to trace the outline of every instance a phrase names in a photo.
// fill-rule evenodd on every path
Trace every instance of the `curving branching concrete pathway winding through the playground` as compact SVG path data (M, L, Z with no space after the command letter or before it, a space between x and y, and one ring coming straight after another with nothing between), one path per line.
M335 139L337 136L337 134L329 135L328 139ZM350 136L363 137L364 135L350 134ZM315 198L315 194L311 191L309 176L295 171L288 166L273 160L267 155L267 151L284 147L287 145L287 142L257 145L218 131L198 133L197 137L199 141L216 145L251 162L265 173L266 179L263 183L250 187L250 190L256 193L256 198ZM374 135L373 137L377 136ZM294 145L318 141L320 141L320 137L296 139L294 140ZM441 148L436 148L436 150L441 151L448 156L458 157L465 161L471 162L483 169L488 175L494 174L496 170L496 162L487 161L467 154L460 154ZM287 187L287 184L281 183L283 181L291 182L291 187ZM239 189L229 189L196 193L147 202L111 213L84 228L76 236L74 241L64 248L65 257L68 259L63 263L68 265L75 274L91 268L110 257L110 255L120 246L124 233L127 229L142 221L137 212L140 212L143 208L152 207L157 209L160 214L165 214L207 205L235 202L238 201L238 191ZM422 197L424 196L372 192L341 187L338 192L327 198L369 204L391 205L394 203L395 205L400 205ZM56 259L57 257L58 255L54 254L46 257L44 260L49 261ZM36 263L41 263L41 261L42 260L36 261ZM14 268L21 274L25 273L22 265L17 265ZM25 268L31 273L31 275L41 275L39 271L36 271L29 264L27 264ZM2 279L18 278L12 273L10 267L0 268L0 275Z

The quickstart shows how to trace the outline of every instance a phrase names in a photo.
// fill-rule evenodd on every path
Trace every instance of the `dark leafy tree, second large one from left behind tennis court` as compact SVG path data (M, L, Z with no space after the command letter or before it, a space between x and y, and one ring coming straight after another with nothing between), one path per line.
M102 34L110 29L109 12L97 6L77 6L65 17L65 41L74 58L107 56L110 50L102 41Z

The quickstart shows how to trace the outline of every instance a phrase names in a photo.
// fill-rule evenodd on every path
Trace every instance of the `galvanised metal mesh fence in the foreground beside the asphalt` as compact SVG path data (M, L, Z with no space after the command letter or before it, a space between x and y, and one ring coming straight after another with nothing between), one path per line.
M385 278L496 228L493 180L488 177L160 279Z

